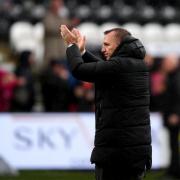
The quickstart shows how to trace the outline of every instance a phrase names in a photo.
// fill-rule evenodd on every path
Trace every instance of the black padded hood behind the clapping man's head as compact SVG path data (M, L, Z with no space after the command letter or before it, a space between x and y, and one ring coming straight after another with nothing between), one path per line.
M139 39L131 35L127 35L121 44L115 50L113 56L133 57L137 59L144 59L146 50Z

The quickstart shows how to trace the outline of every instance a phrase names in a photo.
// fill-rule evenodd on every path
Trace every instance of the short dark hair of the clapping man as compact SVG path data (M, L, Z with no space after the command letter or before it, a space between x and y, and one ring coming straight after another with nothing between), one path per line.
M121 42L126 36L130 36L131 33L123 28L113 28L104 32L104 34L109 34L110 32L115 32L115 36L119 42Z

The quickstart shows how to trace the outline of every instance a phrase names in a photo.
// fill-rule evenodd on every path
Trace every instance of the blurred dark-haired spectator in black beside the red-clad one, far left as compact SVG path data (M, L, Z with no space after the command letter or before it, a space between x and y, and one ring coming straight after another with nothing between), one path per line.
M16 78L21 85L14 89L11 111L30 112L35 103L34 77L31 66L34 64L34 55L30 51L23 51L15 69Z

